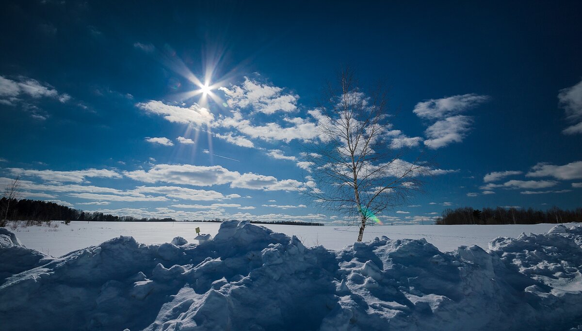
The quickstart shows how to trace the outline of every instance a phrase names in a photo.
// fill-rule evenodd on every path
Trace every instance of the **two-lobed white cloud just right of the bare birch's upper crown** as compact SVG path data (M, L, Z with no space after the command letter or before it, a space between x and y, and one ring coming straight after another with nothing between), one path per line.
M418 102L413 112L421 119L435 121L425 130L424 144L432 149L460 143L470 131L473 118L459 115L487 101L487 95L463 94Z

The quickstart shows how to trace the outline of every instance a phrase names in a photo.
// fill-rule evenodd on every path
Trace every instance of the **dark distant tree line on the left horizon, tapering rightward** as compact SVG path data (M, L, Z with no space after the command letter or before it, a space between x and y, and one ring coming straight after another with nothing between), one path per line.
M8 206L10 208L8 209ZM55 202L22 199L16 200L7 198L0 199L0 211L7 211L8 220L71 220L91 221L91 222L176 222L173 218L136 218L133 216L117 216L102 212L87 212L80 209L69 208ZM225 218L211 220L190 220L189 222L222 222ZM322 226L324 223L313 223L293 220L260 221L249 220L258 224L283 224L283 225L315 225ZM5 226L5 224L0 224Z

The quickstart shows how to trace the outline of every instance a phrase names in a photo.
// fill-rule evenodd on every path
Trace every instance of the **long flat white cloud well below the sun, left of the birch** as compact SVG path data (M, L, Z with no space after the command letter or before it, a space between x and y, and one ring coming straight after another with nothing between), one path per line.
M230 184L232 188L249 188L265 191L294 191L304 184L292 179L278 180L273 176L258 175L255 173L240 174L222 166L194 166L194 165L155 165L147 172L134 170L123 173L125 176L145 183L157 181L194 186L212 186Z

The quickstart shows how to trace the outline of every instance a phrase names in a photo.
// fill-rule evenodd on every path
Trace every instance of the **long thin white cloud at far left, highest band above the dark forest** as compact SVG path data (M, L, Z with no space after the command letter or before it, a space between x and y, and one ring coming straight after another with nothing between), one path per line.
M15 175L25 177L38 177L42 180L52 182L72 181L74 183L81 183L86 181L86 177L101 177L101 178L121 178L122 176L108 169L86 169L86 170L71 170L71 171L55 171L55 170L32 170L22 168L8 168L10 172Z

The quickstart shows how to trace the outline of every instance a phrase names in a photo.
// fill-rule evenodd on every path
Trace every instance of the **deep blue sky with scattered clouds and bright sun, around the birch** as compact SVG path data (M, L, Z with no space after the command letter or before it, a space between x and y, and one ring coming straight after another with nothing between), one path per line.
M343 220L294 187L310 111L350 65L391 87L391 143L436 163L425 193L384 223L581 206L579 1L1 7L0 184L20 174L25 197L145 217Z

